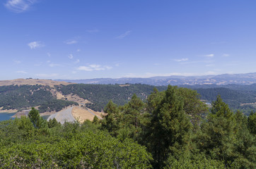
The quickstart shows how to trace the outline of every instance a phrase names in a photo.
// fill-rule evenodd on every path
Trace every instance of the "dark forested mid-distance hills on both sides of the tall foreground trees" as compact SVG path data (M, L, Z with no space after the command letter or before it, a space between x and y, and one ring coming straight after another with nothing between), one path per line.
M200 99L211 103L218 94L221 95L230 108L235 111L242 110L249 115L250 111L256 109L256 89L252 85L226 85L225 87L216 87L213 85L197 85L191 87L201 95ZM208 88L207 88L208 87ZM243 88L244 87L244 88ZM40 106L40 112L60 111L69 105L78 105L74 101L69 101L67 95L76 95L82 99L88 100L81 105L93 109L94 111L103 111L105 105L110 99L122 106L132 99L136 94L142 101L151 94L154 86L147 84L69 84L54 87L42 85L11 85L0 87L0 107L3 110L17 109L23 110L33 106ZM159 91L167 87L156 87ZM63 94L62 99L52 91Z

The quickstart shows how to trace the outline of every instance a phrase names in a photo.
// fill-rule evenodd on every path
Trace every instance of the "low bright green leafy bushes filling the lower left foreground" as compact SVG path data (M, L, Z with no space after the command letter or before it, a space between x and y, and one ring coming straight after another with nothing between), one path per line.
M132 139L120 142L91 122L57 125L43 134L30 120L25 127L25 119L0 123L1 136L7 136L0 139L0 168L151 168L144 146ZM24 131L32 134L19 134Z

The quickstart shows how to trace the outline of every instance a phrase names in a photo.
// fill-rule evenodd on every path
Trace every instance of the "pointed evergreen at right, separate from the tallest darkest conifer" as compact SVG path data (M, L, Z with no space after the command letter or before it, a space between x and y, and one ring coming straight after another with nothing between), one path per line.
M233 142L235 142L233 112L222 101L221 96L218 96L216 101L212 102L207 121L202 124L198 146L206 155L228 163L233 161Z

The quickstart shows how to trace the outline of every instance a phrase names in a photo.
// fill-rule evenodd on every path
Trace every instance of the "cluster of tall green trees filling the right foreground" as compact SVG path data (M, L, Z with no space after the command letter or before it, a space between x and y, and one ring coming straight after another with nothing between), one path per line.
M153 89L124 106L110 101L102 128L146 146L153 168L255 168L254 114L233 113L221 96L208 112L191 89Z

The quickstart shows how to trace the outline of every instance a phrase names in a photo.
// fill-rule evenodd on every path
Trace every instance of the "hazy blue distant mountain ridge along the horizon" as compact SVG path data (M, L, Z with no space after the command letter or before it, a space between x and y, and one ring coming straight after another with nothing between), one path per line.
M85 80L57 80L84 84L150 84L155 86L197 85L197 84L253 84L256 83L256 73L222 74L203 76L157 76L149 78L122 77L122 78L95 78Z

